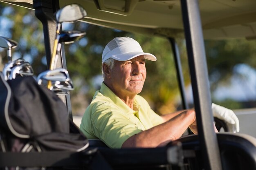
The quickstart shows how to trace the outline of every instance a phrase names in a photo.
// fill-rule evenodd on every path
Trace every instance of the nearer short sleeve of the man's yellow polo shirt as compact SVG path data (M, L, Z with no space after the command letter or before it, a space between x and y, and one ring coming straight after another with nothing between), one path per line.
M142 130L117 108L100 106L91 116L94 134L110 148L121 148L124 141Z

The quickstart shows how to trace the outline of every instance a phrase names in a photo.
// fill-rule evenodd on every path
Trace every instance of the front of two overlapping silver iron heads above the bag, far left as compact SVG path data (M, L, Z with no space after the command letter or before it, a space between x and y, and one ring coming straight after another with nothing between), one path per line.
M34 70L29 62L24 62L11 68L11 73L8 79L15 79L17 75L20 75L22 77L32 76L34 75Z

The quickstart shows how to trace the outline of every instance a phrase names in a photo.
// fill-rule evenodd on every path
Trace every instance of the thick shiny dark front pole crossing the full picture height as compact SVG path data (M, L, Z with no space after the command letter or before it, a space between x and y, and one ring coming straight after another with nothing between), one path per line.
M211 94L198 0L180 2L204 169L222 170L217 136L213 129Z

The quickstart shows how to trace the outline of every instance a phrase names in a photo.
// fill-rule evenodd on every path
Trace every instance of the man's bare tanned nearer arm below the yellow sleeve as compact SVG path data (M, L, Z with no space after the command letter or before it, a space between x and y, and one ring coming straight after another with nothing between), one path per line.
M122 148L164 146L181 137L189 126L193 127L194 133L197 133L194 110L179 111L173 113L172 118L168 116L163 119L169 120L131 136L124 142Z

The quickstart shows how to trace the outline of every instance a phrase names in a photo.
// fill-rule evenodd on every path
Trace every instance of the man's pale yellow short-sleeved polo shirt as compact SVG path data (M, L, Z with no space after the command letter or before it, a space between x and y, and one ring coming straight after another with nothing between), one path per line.
M102 83L85 110L80 129L88 139L100 139L110 148L121 148L132 135L163 122L143 97L136 95L131 109Z

